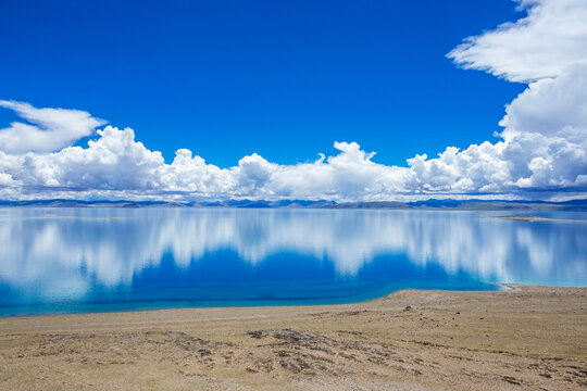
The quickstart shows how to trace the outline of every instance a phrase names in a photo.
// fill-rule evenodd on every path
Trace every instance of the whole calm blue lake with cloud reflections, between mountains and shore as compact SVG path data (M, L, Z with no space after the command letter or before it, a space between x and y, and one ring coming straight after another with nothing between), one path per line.
M587 223L478 218L504 214L4 207L0 316L587 285Z

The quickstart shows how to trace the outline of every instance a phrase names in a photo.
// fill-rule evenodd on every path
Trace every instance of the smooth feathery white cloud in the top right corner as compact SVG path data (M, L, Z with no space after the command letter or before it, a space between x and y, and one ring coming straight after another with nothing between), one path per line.
M464 68L511 81L560 76L587 64L585 0L515 0L527 16L470 37L448 55Z

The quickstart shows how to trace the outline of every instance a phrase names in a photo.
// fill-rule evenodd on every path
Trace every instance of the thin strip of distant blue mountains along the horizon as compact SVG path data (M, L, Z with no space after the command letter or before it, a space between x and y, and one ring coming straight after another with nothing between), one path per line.
M504 200L426 200L413 202L376 201L336 203L308 200L225 200L214 202L165 201L83 201L83 200L27 200L0 201L0 206L46 207L257 207L257 209L386 209L386 210L453 210L453 211L587 211L587 199L564 202L504 201Z

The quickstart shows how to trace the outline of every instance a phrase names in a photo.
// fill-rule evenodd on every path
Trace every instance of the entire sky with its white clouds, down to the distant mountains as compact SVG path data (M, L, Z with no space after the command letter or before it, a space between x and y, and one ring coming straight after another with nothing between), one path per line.
M586 20L585 0L0 0L0 199L586 198Z

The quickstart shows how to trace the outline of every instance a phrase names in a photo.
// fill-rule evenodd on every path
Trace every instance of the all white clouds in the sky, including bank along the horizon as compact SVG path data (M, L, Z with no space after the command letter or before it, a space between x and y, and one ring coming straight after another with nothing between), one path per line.
M130 128L107 126L87 148L70 147L103 125L89 113L0 101L30 124L0 129L0 198L250 198L335 201L429 197L519 198L587 189L587 2L520 0L527 16L470 37L448 56L527 89L500 122L497 142L408 166L373 161L355 142L313 163L280 165L257 153L220 168L180 149L171 164ZM42 191L41 191L42 190ZM532 195L530 195L532 197ZM537 195L534 195L538 198Z

